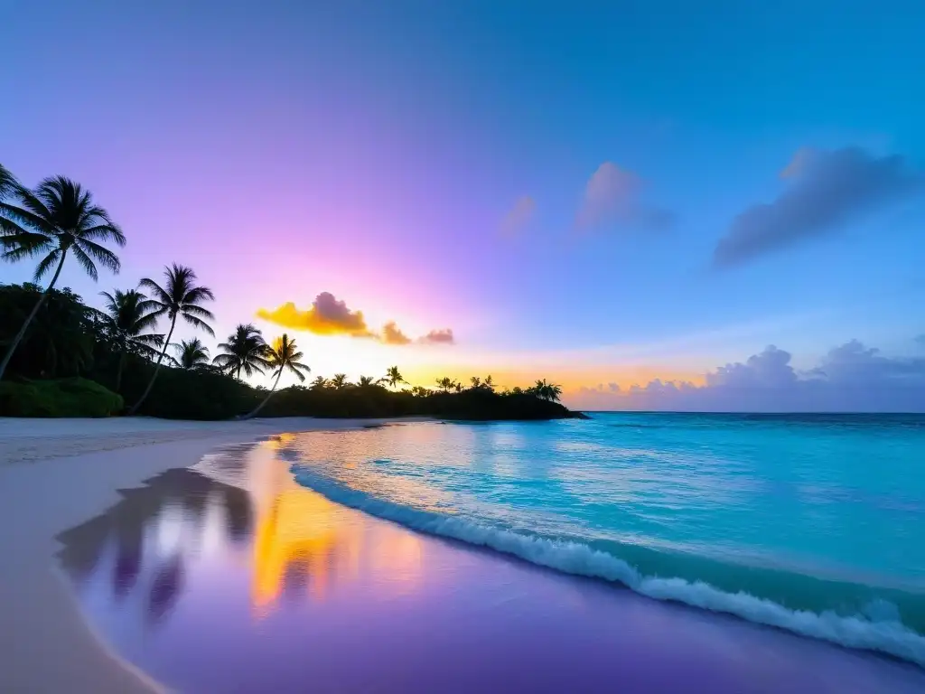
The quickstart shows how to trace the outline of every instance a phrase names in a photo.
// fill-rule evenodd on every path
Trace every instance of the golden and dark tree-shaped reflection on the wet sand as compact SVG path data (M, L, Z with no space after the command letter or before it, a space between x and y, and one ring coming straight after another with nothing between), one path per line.
M393 592L413 587L419 539L297 485L277 460L287 442L237 447L121 490L105 514L58 537L61 564L79 587L106 586L113 606L139 593L130 602L151 625L176 606L189 576L228 566L246 573L258 617L282 598L323 601L364 571L388 573L382 585Z

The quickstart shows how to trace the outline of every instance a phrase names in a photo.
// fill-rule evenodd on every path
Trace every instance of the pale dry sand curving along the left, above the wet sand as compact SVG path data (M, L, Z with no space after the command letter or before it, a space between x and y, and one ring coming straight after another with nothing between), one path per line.
M309 418L0 419L0 691L159 689L93 635L56 568L56 535L117 502L117 489L193 465L222 444L369 424Z

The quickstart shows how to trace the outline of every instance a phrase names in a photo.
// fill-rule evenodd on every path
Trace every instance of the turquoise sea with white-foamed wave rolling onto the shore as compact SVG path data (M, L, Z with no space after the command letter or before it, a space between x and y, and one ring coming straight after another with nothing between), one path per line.
M925 416L599 414L281 443L425 532L925 664Z

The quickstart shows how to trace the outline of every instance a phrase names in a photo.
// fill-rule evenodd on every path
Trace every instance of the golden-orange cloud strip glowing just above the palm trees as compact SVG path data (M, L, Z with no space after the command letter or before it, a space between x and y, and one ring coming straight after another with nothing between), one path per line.
M394 320L388 321L377 333L366 325L362 311L351 311L344 301L338 301L329 291L322 291L305 311L292 302L282 304L273 311L262 308L257 316L283 328L308 330L315 335L349 335L352 338L369 338L390 345L411 344L413 340L402 332ZM450 328L431 330L420 338L421 344L452 344Z

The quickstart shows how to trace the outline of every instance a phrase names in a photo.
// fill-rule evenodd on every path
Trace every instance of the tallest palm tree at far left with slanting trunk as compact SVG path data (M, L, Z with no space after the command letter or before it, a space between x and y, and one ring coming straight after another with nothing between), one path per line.
M3 378L6 366L29 324L48 298L48 292L55 286L68 253L77 258L84 271L96 281L99 277L96 263L114 274L119 270L117 255L99 242L115 242L124 246L125 235L109 218L105 209L93 204L93 196L83 190L80 183L57 176L43 180L33 192L15 180L10 182L11 176L6 169L0 175L3 177L0 187L6 188L6 194L13 192L21 203L21 206L17 206L0 201L0 248L4 252L3 259L12 263L42 255L42 260L35 267L36 280L42 279L55 267L51 281L6 350L3 363L0 363L0 378Z

